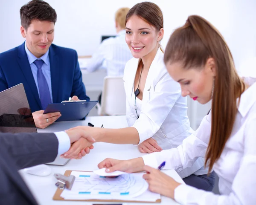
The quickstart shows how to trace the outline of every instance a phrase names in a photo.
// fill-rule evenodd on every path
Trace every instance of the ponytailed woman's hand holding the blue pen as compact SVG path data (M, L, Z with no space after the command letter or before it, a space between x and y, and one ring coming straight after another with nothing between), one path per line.
M176 182L172 177L160 170L152 167L144 166L143 170L147 172L143 175L143 179L148 182L150 191L174 199L174 190L177 186L181 185L180 183Z

